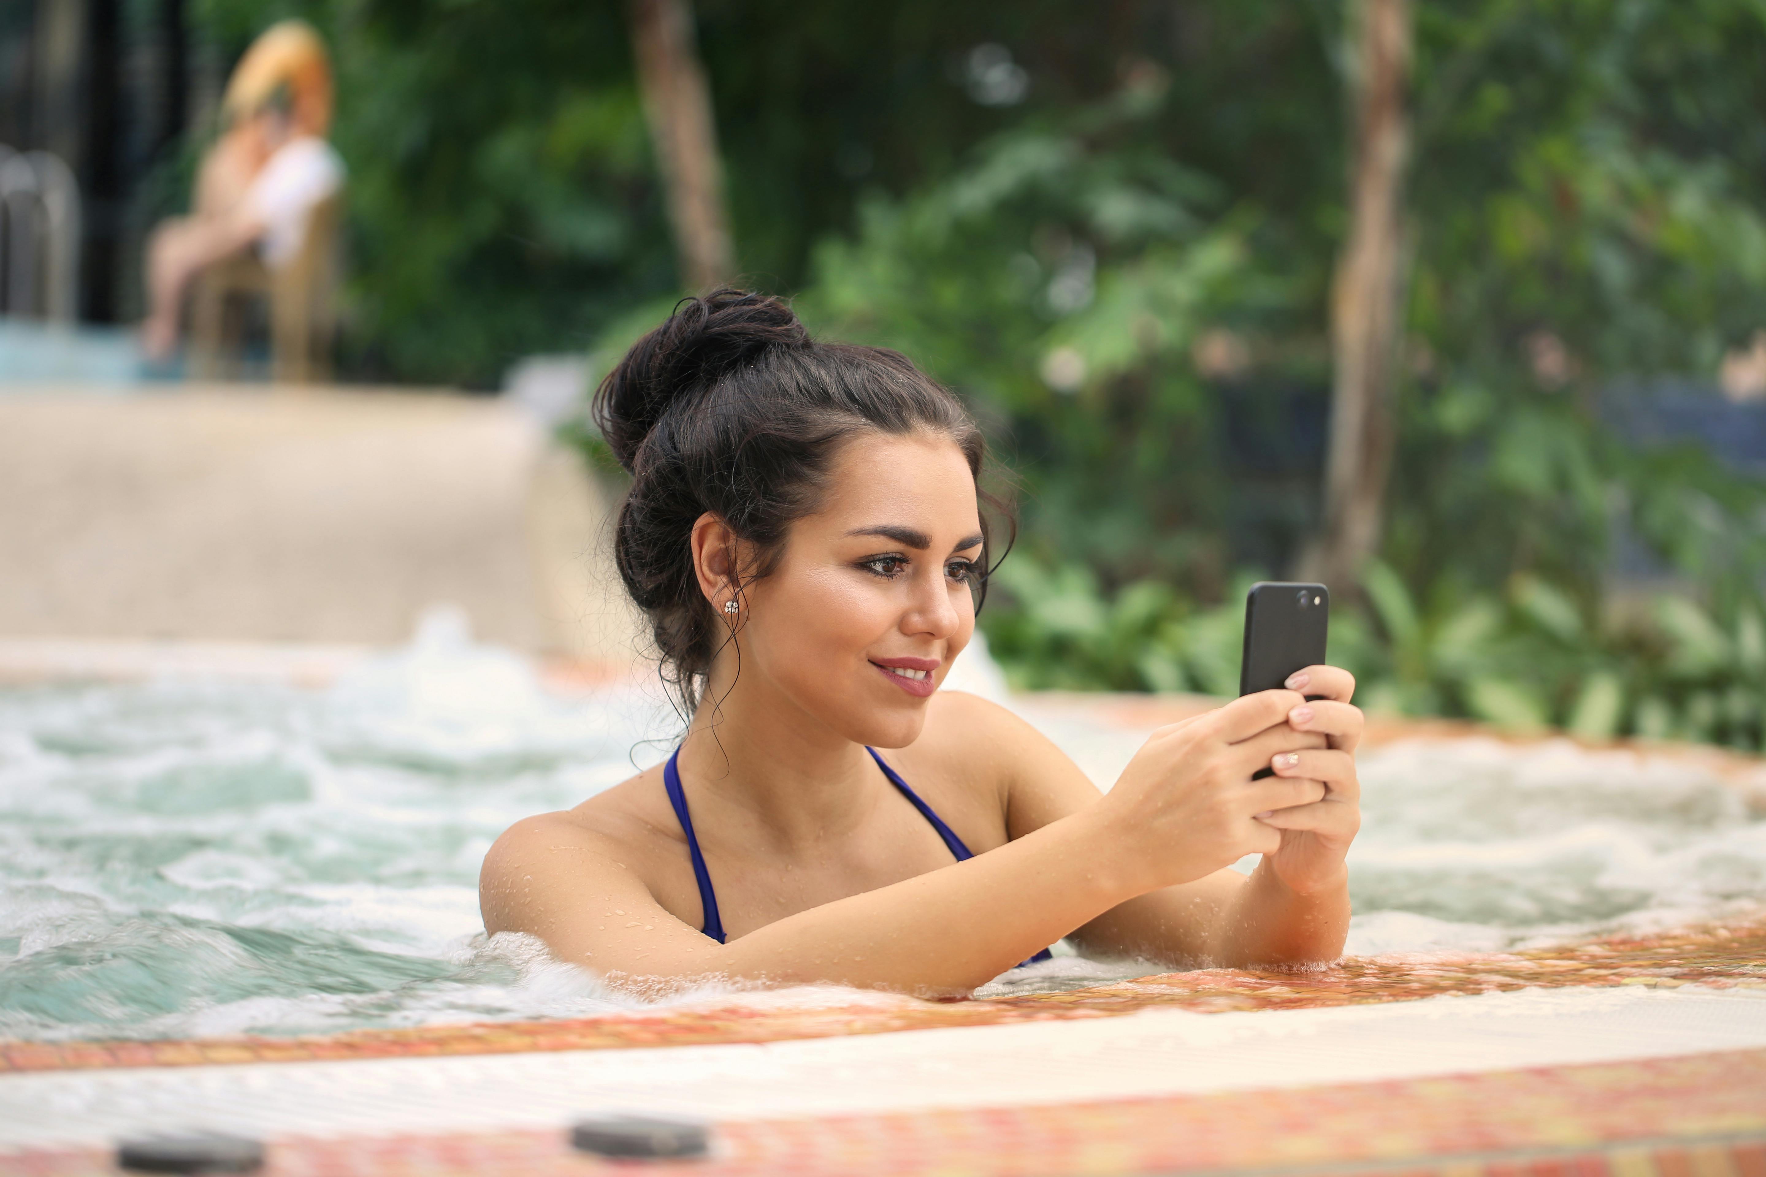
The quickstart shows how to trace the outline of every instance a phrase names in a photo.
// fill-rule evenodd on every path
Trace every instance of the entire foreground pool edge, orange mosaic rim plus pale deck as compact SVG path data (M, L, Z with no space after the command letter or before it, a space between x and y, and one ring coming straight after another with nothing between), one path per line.
M694 1172L719 1175L1761 1177L1766 919L970 1002L0 1057L5 1173L109 1172L109 1142L155 1131L267 1140L277 1173L581 1172L572 1117L620 1110L713 1122Z

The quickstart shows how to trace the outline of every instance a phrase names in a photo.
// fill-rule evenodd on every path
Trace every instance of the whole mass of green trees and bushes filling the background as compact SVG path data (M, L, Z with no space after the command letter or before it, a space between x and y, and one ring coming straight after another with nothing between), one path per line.
M984 614L1007 671L1231 692L1240 591L1317 519L1342 5L696 9L751 281L952 383L1021 484ZM238 48L286 12L337 46L357 374L604 367L660 318L618 4L196 16ZM1450 0L1416 21L1397 461L1332 656L1377 708L1759 746L1766 489L1621 438L1607 399L1709 374L1766 325L1766 18Z

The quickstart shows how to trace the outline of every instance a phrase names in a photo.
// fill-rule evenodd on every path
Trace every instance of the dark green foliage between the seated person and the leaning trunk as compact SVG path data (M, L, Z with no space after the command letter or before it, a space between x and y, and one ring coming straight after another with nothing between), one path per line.
M350 168L346 367L494 385L675 284L615 4L205 0L242 49L304 16L337 71Z

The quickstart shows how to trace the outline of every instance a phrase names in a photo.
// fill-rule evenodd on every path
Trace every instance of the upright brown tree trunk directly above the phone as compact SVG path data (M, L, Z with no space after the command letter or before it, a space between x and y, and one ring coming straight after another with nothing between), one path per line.
M1351 0L1355 19L1349 240L1332 281L1330 452L1324 521L1302 559L1302 577L1344 596L1379 551L1395 436L1402 332L1404 97L1411 58L1409 0Z

